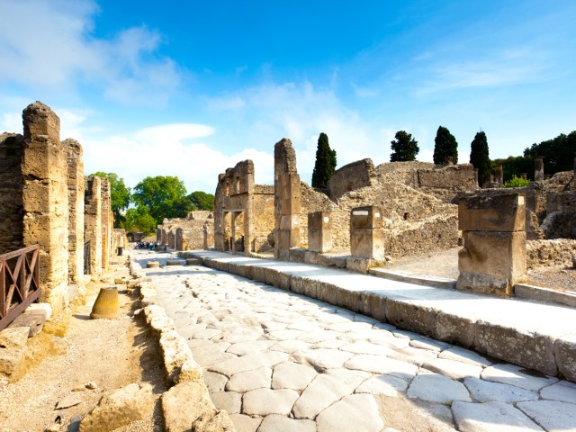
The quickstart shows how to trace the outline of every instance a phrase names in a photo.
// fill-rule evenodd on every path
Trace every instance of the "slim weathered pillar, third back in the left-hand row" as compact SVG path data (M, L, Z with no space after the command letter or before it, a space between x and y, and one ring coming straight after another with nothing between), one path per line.
M84 239L90 242L90 276L102 275L102 179L85 177Z

